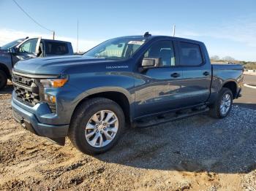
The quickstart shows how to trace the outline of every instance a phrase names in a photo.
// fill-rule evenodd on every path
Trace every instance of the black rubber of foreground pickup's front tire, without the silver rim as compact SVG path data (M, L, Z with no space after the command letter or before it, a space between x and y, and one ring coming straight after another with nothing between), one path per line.
M101 110L110 110L116 114L118 118L118 131L113 140L105 147L92 147L91 144L86 141L85 128L91 117ZM124 119L124 112L116 102L107 98L91 98L81 103L78 108L75 109L69 126L69 139L80 152L85 154L94 155L107 152L120 138L125 126Z

